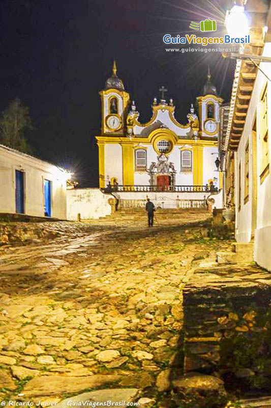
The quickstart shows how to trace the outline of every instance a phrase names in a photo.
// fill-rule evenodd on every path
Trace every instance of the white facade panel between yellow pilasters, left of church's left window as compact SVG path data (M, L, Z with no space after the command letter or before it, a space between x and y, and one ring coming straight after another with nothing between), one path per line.
M118 184L123 184L123 152L122 146L116 143L105 145L105 185L112 177L117 177Z

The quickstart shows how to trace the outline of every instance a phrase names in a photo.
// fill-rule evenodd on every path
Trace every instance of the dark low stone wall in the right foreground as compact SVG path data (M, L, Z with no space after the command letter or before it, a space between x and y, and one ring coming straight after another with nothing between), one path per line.
M271 274L256 266L206 265L191 281L184 290L184 371L270 391Z

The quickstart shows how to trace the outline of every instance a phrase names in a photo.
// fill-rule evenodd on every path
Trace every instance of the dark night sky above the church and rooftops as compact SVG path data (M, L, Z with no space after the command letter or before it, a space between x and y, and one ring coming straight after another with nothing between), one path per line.
M223 0L1 0L0 110L18 96L34 122L28 135L34 155L70 167L79 187L97 187L99 91L113 60L142 122L164 85L175 117L186 123L208 64L228 101L235 63L220 53L168 53L176 46L165 45L163 35L191 34L191 20L205 18L216 18L216 35L224 35L231 6Z

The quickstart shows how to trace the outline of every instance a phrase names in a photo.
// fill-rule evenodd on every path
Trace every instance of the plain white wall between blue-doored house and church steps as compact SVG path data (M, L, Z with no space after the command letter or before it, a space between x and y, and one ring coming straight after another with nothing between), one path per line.
M111 206L108 200L113 197L104 194L98 188L84 188L67 191L67 218L77 220L80 214L81 219L98 219L111 214Z

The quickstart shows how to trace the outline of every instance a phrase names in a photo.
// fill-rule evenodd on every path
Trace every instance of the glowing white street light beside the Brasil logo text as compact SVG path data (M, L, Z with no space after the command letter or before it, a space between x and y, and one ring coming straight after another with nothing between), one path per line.
M229 36L245 37L249 34L249 22L245 14L244 6L234 5L227 11L225 25Z

